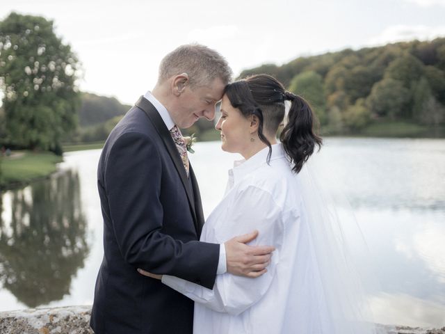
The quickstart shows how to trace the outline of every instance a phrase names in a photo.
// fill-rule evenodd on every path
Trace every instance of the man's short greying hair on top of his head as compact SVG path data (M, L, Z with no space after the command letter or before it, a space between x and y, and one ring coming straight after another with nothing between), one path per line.
M158 82L182 73L188 74L191 87L205 86L216 78L225 85L232 81L232 70L225 58L199 44L181 45L165 56L159 65Z

